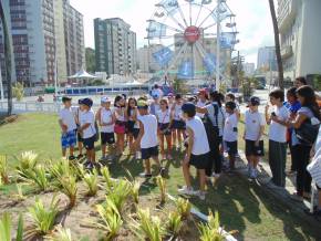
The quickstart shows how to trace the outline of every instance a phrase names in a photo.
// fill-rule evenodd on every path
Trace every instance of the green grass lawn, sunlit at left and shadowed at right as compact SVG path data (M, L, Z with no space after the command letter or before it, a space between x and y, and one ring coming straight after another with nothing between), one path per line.
M240 124L240 129L241 127ZM239 147L244 148L242 140L239 142ZM60 130L56 116L25 114L15 123L0 126L0 154L8 155L11 167L17 161L14 156L24 150L34 150L43 160L60 157ZM100 157L100 153L97 156ZM179 165L182 154L174 153L174 157L173 161L165 163L169 169L166 179L169 193L177 196L177 187L184 185ZM135 177L142 169L142 161L133 160L127 156L111 166L114 177L126 176L126 170ZM157 192L157 189L154 180L149 180L144 184L142 192L148 195ZM1 190L8 192L12 188L2 187ZM282 202L240 175L224 175L214 188L209 188L206 201L199 201L197 198L190 201L204 213L207 213L208 209L218 210L225 229L238 230L239 240L321 239L320 229L302 221L298 213L291 213Z

